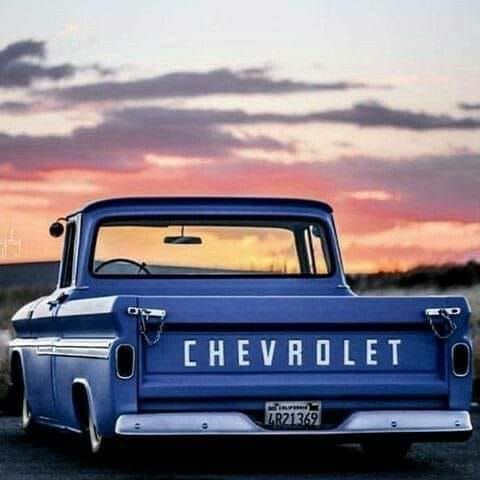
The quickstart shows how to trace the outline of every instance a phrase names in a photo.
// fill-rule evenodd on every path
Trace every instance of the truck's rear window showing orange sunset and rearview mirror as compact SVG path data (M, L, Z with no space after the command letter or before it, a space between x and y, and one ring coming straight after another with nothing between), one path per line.
M97 232L98 276L328 275L319 223L122 220Z

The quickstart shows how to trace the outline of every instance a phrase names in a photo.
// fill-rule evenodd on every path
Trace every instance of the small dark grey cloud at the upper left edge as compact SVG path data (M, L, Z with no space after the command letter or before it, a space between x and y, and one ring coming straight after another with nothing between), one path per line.
M112 73L99 64L75 66L71 63L47 66L46 43L21 40L0 50L0 88L29 87L37 80L58 81L73 77L79 71L90 70L101 76Z

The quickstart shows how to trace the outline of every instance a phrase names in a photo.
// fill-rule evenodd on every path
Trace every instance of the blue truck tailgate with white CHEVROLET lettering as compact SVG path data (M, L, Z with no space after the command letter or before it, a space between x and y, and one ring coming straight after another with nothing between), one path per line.
M451 344L469 308L452 297L138 297L165 309L158 342L139 342L139 400L425 399L448 404ZM427 308L460 307L448 340ZM150 332L155 337L155 332ZM436 402L436 403L435 403Z

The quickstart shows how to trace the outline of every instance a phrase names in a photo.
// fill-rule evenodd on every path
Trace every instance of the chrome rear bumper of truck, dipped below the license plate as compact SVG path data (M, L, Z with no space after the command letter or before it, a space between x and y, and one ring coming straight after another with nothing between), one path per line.
M315 435L468 434L470 414L465 411L382 410L355 412L331 430L269 430L239 412L145 413L118 417L118 435Z

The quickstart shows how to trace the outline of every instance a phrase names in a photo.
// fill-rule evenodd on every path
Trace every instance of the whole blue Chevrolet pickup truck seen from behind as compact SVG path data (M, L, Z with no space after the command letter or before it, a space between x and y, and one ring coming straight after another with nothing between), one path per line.
M52 224L58 286L13 317L27 432L302 437L406 454L472 432L463 297L349 289L325 203L120 198Z

